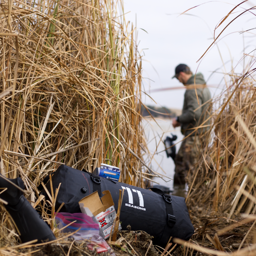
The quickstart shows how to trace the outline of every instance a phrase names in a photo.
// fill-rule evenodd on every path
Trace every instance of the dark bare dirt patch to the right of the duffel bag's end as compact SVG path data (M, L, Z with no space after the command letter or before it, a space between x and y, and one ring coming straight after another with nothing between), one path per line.
M255 243L256 228L252 222L244 223L240 216L236 219L228 219L227 214L218 215L213 211L208 211L204 207L194 207L190 210L190 218L195 228L195 234L191 238L193 244L201 245L208 249L218 249L225 252L237 251L244 240L245 235L250 230L244 244ZM172 255L184 255L183 246L180 246ZM189 249L189 254L193 256L208 255Z

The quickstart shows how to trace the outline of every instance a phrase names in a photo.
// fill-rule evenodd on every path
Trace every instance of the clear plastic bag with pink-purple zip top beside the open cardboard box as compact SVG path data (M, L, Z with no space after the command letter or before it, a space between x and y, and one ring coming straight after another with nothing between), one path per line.
M57 213L55 224L61 232L75 232L71 237L74 240L87 240L87 247L90 250L96 250L98 253L109 252L115 256L114 251L109 244L100 236L98 223L84 213Z

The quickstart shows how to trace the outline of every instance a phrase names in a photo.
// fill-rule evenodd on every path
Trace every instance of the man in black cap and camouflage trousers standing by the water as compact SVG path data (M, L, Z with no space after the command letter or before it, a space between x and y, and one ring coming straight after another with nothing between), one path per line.
M172 119L172 126L181 126L184 135L175 157L174 184L185 184L185 177L201 152L203 141L200 135L209 129L208 107L211 95L203 75L193 75L186 64L179 64L175 68L174 77L186 87L182 114Z

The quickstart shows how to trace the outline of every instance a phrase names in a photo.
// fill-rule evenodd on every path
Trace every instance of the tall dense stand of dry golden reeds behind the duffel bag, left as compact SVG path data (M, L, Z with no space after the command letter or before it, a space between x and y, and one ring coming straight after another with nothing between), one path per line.
M118 166L143 187L141 57L122 1L2 0L0 24L1 174L20 176L34 207L60 164ZM1 213L0 243L13 245Z

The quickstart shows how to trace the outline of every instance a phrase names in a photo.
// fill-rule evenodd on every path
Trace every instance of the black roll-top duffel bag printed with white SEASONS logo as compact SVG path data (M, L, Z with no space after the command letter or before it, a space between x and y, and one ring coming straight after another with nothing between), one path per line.
M124 189L120 221L122 229L130 225L133 231L145 231L154 237L153 243L165 247L170 237L189 240L194 227L189 218L183 197L166 195L157 188L143 189L99 177L87 171L79 171L61 165L52 175L53 189L61 187L55 209L61 206L61 212L81 212L78 202L87 195L109 190L117 211L119 190ZM50 184L46 184L49 191ZM41 194L47 197L44 189Z

